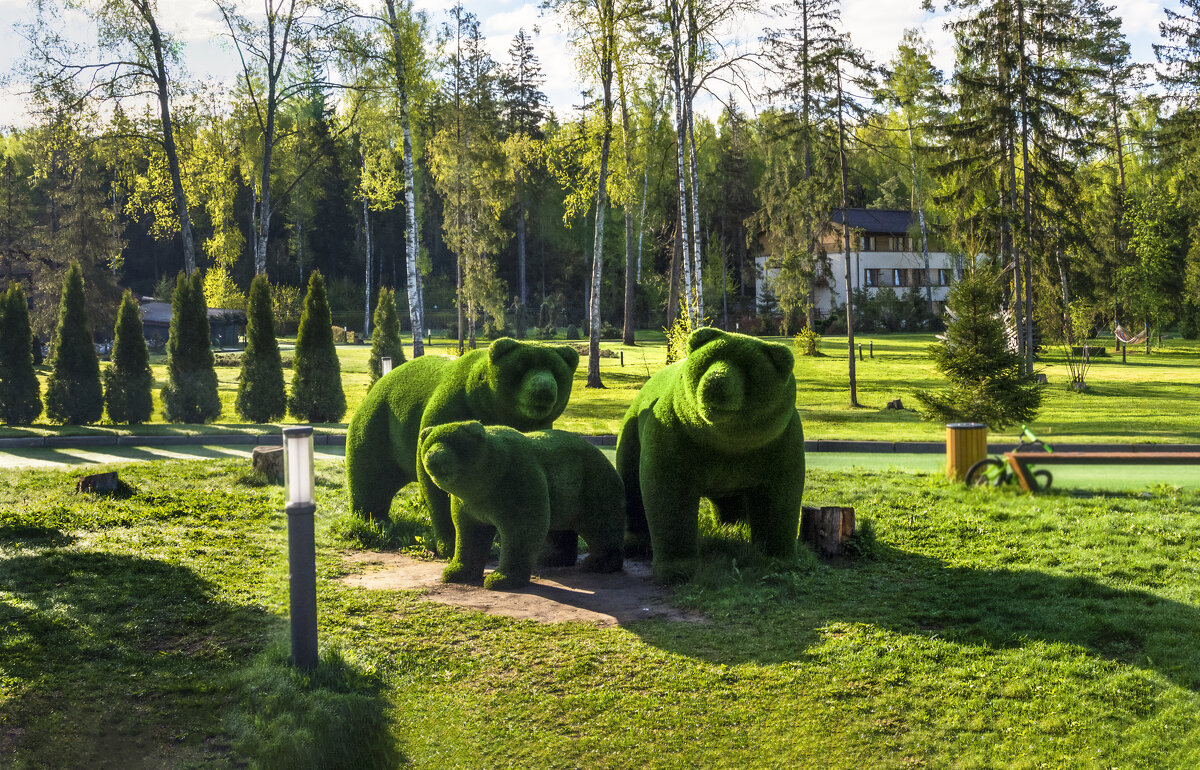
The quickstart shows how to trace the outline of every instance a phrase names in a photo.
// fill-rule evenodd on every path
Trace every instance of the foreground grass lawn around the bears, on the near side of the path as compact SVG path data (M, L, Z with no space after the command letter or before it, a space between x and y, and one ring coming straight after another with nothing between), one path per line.
M626 359L628 366L628 359ZM812 470L858 555L763 563L706 521L674 602L708 624L538 625L337 583L318 464L323 660L286 658L277 487L245 459L0 470L0 765L1196 766L1200 495L1031 498ZM412 497L391 547L428 536Z

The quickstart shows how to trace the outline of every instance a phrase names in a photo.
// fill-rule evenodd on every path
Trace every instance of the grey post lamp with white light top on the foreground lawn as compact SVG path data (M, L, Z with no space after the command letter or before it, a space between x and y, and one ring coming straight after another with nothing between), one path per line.
M312 470L312 426L283 428L283 468L288 515L288 594L292 662L317 666L317 503Z

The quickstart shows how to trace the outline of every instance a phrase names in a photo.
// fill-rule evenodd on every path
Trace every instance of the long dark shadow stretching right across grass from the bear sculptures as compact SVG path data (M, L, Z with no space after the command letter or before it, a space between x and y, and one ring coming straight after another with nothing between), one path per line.
M655 646L721 663L804 660L822 628L838 622L990 649L1042 640L1200 692L1200 610L1190 604L1084 577L959 567L882 545L874 552L808 572L738 572L734 563L724 584L689 589L701 612L715 616L712 626L683 634L672 624L631 630Z

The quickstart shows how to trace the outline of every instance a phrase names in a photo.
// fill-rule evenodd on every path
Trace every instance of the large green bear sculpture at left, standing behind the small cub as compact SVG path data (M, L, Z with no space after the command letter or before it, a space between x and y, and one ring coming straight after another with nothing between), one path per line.
M503 337L460 359L426 355L396 367L371 387L346 433L350 507L385 519L396 493L416 481L444 553L454 545L450 498L418 463L421 428L461 420L548 428L566 408L578 365L574 348Z

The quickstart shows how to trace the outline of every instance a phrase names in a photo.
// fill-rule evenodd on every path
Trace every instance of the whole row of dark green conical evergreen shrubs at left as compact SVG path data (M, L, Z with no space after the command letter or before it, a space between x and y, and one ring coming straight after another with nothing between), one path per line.
M179 275L172 294L167 343L167 385L163 413L170 422L211 422L221 414L210 341L208 307L199 271ZM283 386L283 362L275 339L271 290L266 276L250 287L246 349L238 377L234 407L251 422L272 422L290 413L307 422L337 422L346 414L341 367L334 348L329 300L319 272L308 281L293 362L292 393ZM380 360L404 360L391 291L379 293L371 347L372 383ZM54 360L46 383L46 415L66 425L98 422L104 410L113 422L150 419L154 377L138 303L130 291L121 297L113 336L112 366L101 387L100 360L92 345L84 301L83 272L72 263L62 282ZM29 323L29 307L19 284L0 295L0 419L29 425L42 413L34 368L38 353Z

